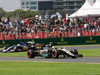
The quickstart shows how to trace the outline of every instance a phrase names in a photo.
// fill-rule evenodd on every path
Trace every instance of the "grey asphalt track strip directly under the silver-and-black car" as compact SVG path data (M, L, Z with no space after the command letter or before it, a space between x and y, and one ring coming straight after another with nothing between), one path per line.
M76 62L76 63L100 63L99 57L83 57L83 58L64 58L64 59L46 59L43 57L35 57L29 59L27 57L0 57L0 61L33 61L33 62Z

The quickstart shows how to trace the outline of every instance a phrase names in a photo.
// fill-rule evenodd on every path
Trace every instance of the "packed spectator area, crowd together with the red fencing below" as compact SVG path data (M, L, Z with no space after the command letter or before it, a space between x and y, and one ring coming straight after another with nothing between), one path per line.
M15 20L2 20L0 40L100 36L100 18L77 18L77 22L71 18L67 20L49 19L49 37L47 37L45 20L20 19L19 30L18 33Z

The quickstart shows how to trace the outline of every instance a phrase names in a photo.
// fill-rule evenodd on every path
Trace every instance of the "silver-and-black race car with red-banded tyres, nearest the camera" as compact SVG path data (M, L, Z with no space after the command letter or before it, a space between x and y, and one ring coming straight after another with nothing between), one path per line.
M29 49L27 51L28 58L34 58L35 56L41 56L45 58L65 58L72 57L83 57L82 54L78 54L78 51L76 49L67 50L65 48L55 48L52 47L52 45L44 46L41 50L33 50Z

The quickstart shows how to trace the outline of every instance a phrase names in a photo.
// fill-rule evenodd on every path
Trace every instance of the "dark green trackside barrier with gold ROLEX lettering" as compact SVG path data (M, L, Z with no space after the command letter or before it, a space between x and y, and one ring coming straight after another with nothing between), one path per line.
M35 43L53 44L53 45L85 45L100 44L100 36L88 37L66 37L66 38L45 38L45 39L17 39L17 40L0 40L0 48L4 46L16 45L19 42L32 41Z

